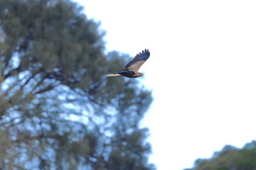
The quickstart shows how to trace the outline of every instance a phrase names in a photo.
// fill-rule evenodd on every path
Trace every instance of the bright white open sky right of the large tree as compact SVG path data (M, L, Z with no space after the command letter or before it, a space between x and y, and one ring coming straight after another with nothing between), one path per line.
M157 169L188 168L256 140L256 1L80 4L107 31L107 51L151 52L141 71L154 103L143 125Z

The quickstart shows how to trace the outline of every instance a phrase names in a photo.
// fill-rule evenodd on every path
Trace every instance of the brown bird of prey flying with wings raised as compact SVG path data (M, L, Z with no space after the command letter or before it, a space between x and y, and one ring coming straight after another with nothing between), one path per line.
M149 58L150 52L149 50L144 50L139 52L131 62L128 62L122 71L119 71L114 74L107 74L107 77L117 77L117 76L124 76L129 78L137 78L141 77L143 74L138 72L139 68L146 62Z

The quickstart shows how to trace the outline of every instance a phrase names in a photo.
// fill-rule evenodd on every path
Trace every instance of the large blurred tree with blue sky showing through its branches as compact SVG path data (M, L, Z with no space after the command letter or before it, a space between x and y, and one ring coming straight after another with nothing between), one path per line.
M0 0L1 169L154 169L151 92L106 79L129 56L68 0Z

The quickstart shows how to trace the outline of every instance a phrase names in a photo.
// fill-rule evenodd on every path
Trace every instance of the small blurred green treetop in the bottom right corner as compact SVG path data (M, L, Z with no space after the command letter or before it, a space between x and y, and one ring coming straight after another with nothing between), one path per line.
M254 170L256 169L256 141L238 149L227 145L210 159L198 159L193 169L187 170Z

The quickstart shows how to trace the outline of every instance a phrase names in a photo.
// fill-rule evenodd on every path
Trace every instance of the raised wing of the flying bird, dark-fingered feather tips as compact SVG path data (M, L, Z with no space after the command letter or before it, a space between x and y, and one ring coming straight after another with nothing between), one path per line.
M124 69L125 70L129 69L134 72L138 72L139 68L142 66L142 64L144 64L144 62L146 62L146 60L149 58L149 56L150 56L149 50L145 49L144 51L139 52L139 54L137 54L132 61L130 61L130 62L128 62L128 64L126 64Z

